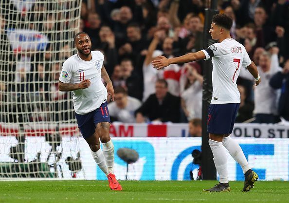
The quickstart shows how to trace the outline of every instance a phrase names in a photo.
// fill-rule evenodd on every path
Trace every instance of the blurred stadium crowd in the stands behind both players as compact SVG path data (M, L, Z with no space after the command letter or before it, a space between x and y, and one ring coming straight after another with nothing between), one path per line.
M205 48L204 10L209 2L92 0L88 6L86 0L82 1L78 31L90 36L91 50L105 55L104 66L116 95L108 104L113 121L185 123L201 118L202 61L173 64L161 71L155 70L151 61L158 55L175 57ZM217 9L233 18L231 37L245 46L262 78L253 89L254 78L245 68L241 70L237 80L241 104L236 122L278 123L280 117L289 120L289 1L218 0ZM54 15L48 16L45 30L57 26ZM7 46L1 45L1 50L9 49ZM48 46L45 59L53 57L52 50L59 50L56 57L68 58L67 46ZM52 86L47 82L39 88L57 92L61 65L53 64L50 71L54 74L49 77L42 74L46 68L43 64L31 65L37 75L29 78L55 81ZM0 88L5 86L1 84ZM58 92L54 97L66 99L67 94Z

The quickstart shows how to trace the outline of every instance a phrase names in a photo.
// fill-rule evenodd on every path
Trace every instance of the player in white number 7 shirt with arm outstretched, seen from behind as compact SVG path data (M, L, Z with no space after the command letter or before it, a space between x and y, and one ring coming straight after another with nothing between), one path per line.
M247 67L253 75L256 82L254 86L261 82L257 68L249 58L244 46L230 36L232 23L231 18L224 14L217 14L213 17L209 33L213 39L218 40L218 43L197 53L169 59L159 56L159 59L152 61L155 68L162 69L174 63L187 63L200 59L208 60L212 57L213 97L209 107L208 132L209 145L219 174L219 184L203 190L208 192L229 192L231 190L225 148L243 169L245 175L243 191L249 191L253 188L253 184L258 178L257 174L250 168L240 146L230 137L240 105L240 93L236 85L240 67Z

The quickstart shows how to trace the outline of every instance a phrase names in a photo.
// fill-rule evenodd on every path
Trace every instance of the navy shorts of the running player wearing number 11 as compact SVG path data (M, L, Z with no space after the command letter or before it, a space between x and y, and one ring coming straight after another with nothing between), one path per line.
M96 124L100 122L110 123L108 103L103 103L99 108L87 114L75 113L78 128L84 138L88 138L95 132Z

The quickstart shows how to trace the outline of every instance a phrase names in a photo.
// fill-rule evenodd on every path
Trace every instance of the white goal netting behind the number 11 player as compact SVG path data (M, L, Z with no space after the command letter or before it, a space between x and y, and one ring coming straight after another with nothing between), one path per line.
M0 177L72 177L79 133L71 93L57 86L81 0L0 2Z

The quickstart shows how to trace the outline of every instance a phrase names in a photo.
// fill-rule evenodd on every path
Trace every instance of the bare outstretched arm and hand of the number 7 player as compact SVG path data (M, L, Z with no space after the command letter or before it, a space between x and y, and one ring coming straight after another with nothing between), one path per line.
M153 60L151 64L154 68L156 68L157 70L160 70L170 64L188 63L188 62L201 60L205 58L206 58L206 55L202 51L189 53L189 54L182 55L182 56L175 57L175 58L166 58L162 55L159 55L158 59Z

